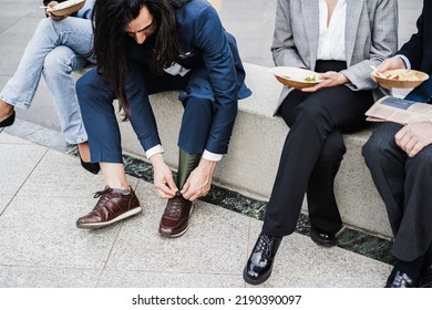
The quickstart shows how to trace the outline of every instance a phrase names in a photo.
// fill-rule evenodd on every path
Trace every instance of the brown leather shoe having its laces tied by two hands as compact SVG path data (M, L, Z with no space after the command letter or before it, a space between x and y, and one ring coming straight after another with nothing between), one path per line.
M162 237L174 238L186 232L192 214L192 202L182 196L168 200L162 215L158 234Z

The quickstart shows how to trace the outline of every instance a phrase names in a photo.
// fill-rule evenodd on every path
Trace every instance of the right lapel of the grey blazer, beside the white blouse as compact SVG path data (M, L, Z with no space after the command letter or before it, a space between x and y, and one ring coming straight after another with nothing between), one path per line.
M357 30L359 29L360 14L363 8L363 2L364 0L347 0L344 48L348 65L351 63L357 39L357 35L352 35L352 33L357 33Z

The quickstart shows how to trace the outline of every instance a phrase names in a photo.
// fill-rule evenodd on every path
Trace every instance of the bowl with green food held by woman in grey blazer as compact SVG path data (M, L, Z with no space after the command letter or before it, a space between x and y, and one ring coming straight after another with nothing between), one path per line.
M317 72L301 68L275 66L270 69L270 72L280 83L295 89L311 87L322 82Z

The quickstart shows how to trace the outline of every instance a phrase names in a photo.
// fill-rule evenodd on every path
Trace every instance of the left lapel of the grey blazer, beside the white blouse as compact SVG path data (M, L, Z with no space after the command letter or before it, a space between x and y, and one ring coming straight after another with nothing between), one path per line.
M304 23L306 31L306 42L309 44L309 59L310 68L315 69L318 52L318 39L319 39L319 0L299 0L301 3L301 10L304 12Z

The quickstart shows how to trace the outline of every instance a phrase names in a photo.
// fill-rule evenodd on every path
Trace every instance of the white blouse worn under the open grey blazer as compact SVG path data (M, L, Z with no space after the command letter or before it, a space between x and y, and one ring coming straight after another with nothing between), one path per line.
M335 7L329 25L327 27L328 8L326 0L319 0L319 41L318 60L346 61L344 24L347 1L339 0Z

